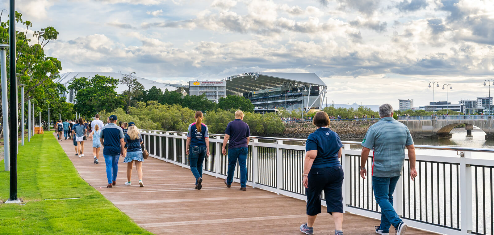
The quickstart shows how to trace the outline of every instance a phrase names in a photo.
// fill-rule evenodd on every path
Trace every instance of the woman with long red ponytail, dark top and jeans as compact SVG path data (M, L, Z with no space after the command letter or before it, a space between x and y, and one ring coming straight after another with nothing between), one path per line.
M187 145L185 154L190 158L190 170L196 178L196 188L203 188L203 162L209 156L209 134L207 126L203 124L203 112L197 111L196 122L190 124L187 131Z

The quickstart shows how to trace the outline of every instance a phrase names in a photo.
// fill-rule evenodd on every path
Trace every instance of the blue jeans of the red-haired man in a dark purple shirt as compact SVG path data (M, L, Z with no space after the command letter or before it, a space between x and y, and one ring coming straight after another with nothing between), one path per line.
M246 188L247 186L247 147L230 148L228 149L228 177L226 183L231 185L235 173L235 167L237 166L237 159L239 160L240 167L240 187Z

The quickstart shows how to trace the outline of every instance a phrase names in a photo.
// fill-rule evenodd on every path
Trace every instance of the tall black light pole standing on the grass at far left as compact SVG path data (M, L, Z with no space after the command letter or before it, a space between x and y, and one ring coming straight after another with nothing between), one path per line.
M5 203L20 203L21 201L17 198L17 135L18 135L18 127L17 127L17 121L19 118L17 117L18 115L18 110L17 110L17 67L16 67L16 31L15 31L15 0L10 0L10 12L9 12L9 42L10 42L10 53L9 53L9 59L10 59L10 73L9 73L9 80L10 80L10 100L9 101L9 106L10 106L10 127L9 127L9 135L10 138L15 138L15 141L10 141L10 195L8 201ZM2 63L3 64L3 63ZM2 76L3 77L3 76ZM6 84L5 84L6 85ZM3 87L3 86L2 86ZM7 102L7 100L3 100L3 102ZM5 147L5 146L4 146ZM6 157L6 156L4 156Z

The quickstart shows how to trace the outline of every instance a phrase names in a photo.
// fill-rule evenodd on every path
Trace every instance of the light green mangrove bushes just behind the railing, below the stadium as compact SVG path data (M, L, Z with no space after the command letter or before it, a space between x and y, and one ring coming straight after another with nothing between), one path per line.
M234 112L234 109L206 111L204 123L208 126L209 133L224 134L228 123L235 119ZM144 130L186 132L188 126L195 122L194 110L178 104L161 104L156 100L136 102L135 107L131 106L128 113L123 108L117 108L114 111L102 110L99 114L102 117L115 114L119 121L134 122L139 129ZM106 123L103 118L102 121ZM249 125L253 136L281 134L285 130L285 125L275 113L245 112L244 121Z

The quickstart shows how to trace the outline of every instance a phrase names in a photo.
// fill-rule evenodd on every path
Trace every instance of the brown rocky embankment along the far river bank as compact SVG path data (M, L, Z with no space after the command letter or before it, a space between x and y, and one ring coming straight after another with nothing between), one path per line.
M364 139L367 130L376 121L355 121L355 122L331 122L329 128L336 132L341 139ZM277 137L306 139L313 133L316 127L312 123L286 123L285 131ZM414 139L424 139L420 135L412 133Z

